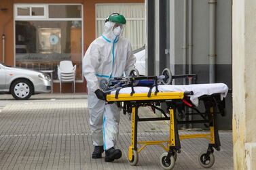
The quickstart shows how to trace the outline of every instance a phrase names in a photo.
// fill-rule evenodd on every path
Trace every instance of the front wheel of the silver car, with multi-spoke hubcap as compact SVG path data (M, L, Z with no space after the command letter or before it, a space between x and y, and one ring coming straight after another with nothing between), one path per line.
M11 86L12 96L16 100L27 100L31 97L33 92L33 85L26 79L14 81Z

